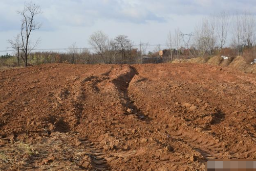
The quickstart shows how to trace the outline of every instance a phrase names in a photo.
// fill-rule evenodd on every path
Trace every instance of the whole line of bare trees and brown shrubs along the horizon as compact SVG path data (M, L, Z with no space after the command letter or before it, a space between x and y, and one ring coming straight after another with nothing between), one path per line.
M135 46L133 41L126 35L118 35L109 38L102 31L97 31L89 37L92 49L80 49L72 44L66 53L56 52L32 52L39 44L39 39L31 41L34 30L41 28L41 23L35 17L41 14L40 6L25 3L22 11L17 11L21 17L20 33L13 39L8 40L10 47L15 50L16 63L22 63L25 67L28 63L104 63L124 64L167 62L180 58L207 57L212 55L243 55L245 52L253 60L256 55L256 20L250 12L230 15L228 12L211 15L203 18L188 39L184 40L184 34L177 28L174 33L169 32L165 47L156 45L153 52L147 53L149 43L140 43ZM228 41L228 39L230 39ZM227 50L228 49L228 50ZM159 54L163 51L163 55ZM249 55L248 55L249 54ZM161 60L157 59L162 57ZM50 59L51 58L51 59ZM22 59L22 61L20 61ZM0 59L3 63L3 58ZM10 60L5 58L5 60ZM12 59L14 60L14 59ZM0 63L1 64L1 63Z

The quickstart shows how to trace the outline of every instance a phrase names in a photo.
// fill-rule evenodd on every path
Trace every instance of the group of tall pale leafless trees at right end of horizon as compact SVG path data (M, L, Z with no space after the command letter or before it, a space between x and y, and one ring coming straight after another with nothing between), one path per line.
M256 18L250 12L236 13L221 12L203 18L191 34L189 47L190 57L205 57L221 54L223 48L230 48L236 55L243 55L244 51L255 51ZM230 39L229 41L227 41ZM179 29L174 34L169 33L167 44L169 49L180 50L182 36ZM175 54L178 58L179 54Z

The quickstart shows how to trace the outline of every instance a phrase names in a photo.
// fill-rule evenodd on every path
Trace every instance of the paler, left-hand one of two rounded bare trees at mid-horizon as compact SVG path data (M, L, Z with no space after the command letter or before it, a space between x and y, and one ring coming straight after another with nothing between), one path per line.
M108 36L102 31L95 32L89 39L89 43L94 47L96 53L100 55L104 64L111 62L109 61L108 56L105 54L108 47L108 40Z

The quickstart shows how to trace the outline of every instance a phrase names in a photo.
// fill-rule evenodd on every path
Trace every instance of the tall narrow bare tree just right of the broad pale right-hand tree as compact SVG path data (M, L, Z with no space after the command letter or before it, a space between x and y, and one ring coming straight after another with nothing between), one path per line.
M227 39L227 31L229 30L229 13L225 11L217 15L217 34L220 41L220 48L224 47Z

